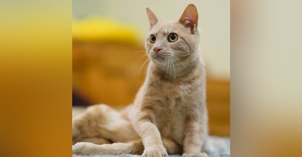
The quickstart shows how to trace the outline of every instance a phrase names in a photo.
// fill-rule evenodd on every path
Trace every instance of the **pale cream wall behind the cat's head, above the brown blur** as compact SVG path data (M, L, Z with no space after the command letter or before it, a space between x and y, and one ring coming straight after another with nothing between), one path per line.
M73 0L73 18L100 14L124 22L136 23L142 39L149 30L146 6L163 20L178 19L193 3L199 14L201 53L211 77L230 79L230 1L227 0Z

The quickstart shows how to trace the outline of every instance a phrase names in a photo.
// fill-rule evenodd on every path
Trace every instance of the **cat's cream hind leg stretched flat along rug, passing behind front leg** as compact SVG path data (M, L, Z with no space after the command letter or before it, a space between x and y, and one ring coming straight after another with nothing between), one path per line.
M168 154L182 154L182 148L180 145L177 145L175 142L165 139L162 139L162 143L165 146ZM82 144L85 144L86 151L83 152ZM112 143L112 144L102 144L96 145L93 143L80 142L72 146L72 154L77 155L120 155L120 154L134 154L142 155L144 151L144 146L142 140L137 140L132 143Z

